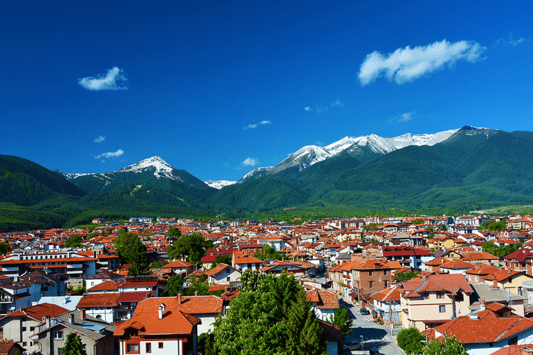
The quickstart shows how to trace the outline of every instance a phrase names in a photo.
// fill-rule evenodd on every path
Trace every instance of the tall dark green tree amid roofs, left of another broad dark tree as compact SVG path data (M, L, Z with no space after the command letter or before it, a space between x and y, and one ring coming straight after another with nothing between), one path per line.
M116 255L121 258L122 264L130 263L128 276L142 275L148 270L146 245L133 233L119 233L113 241Z

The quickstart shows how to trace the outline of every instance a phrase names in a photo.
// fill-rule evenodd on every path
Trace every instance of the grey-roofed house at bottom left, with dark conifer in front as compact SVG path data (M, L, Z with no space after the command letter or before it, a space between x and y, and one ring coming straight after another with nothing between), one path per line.
M70 333L81 338L87 355L114 355L115 328L102 319L86 315L84 310L72 310L56 317L44 317L31 338L38 343L39 352L43 355L61 355Z

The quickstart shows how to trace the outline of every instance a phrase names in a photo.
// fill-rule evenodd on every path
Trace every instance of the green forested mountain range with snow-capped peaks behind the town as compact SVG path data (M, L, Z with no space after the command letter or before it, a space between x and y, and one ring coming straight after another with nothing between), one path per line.
M95 216L456 214L533 203L533 133L465 126L309 145L238 182L203 182L160 157L109 173L49 171L0 155L0 230Z

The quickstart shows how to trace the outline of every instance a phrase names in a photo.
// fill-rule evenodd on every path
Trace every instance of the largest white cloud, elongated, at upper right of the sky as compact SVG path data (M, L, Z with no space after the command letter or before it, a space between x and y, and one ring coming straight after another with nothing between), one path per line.
M361 64L359 79L364 86L385 74L389 81L404 84L435 70L441 70L445 65L453 67L459 60L475 63L481 59L480 56L485 50L486 47L473 41L450 43L442 40L426 46L399 48L386 56L374 51L367 55Z

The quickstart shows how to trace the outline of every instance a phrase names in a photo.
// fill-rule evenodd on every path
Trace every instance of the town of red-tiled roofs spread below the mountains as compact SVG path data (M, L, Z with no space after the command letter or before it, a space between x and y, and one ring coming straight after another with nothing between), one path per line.
M4 232L1 346L59 355L72 333L90 355L205 354L206 335L251 271L295 278L329 354L409 353L402 329L421 337L418 352L420 339L445 334L472 355L533 352L532 236L531 215L94 219ZM121 251L126 237L144 266L128 262L133 244ZM189 237L201 239L196 250L178 247ZM339 309L348 331L332 324Z

